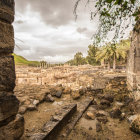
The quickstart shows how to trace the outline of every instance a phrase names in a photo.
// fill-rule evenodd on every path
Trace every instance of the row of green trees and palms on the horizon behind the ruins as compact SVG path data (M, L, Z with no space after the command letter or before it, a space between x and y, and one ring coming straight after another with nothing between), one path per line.
M70 65L99 65L103 63L113 64L113 68L116 68L118 64L126 64L127 51L130 48L130 40L122 40L120 43L113 44L107 43L102 47L95 47L94 45L88 46L88 55L83 57L81 52L74 55L74 59L69 60L67 64Z

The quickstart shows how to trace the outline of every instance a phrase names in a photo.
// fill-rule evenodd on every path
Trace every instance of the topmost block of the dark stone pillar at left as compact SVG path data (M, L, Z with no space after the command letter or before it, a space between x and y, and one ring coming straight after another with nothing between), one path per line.
M7 23L14 21L14 0L0 0L0 19Z

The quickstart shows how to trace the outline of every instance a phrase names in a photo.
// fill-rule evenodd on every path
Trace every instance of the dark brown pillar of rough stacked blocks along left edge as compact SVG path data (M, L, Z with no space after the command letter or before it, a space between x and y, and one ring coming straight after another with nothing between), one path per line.
M24 131L24 119L17 115L19 101L13 92L14 6L14 0L0 0L0 140L19 139Z

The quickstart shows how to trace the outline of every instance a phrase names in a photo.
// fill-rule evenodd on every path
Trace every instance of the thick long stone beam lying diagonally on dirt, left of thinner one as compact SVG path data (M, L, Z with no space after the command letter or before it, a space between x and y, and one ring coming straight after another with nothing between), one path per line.
M60 130L68 123L68 120L77 111L77 104L69 104L64 106L60 111L47 122L43 128L42 133L29 135L29 140L53 140L57 137Z

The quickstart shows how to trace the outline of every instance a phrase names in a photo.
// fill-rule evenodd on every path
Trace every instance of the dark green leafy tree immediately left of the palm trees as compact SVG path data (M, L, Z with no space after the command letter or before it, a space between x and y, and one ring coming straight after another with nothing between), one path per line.
M98 61L96 61L96 53L99 49L95 47L94 45L89 45L88 46L88 56L87 56L87 61L90 65L97 65L99 64Z

